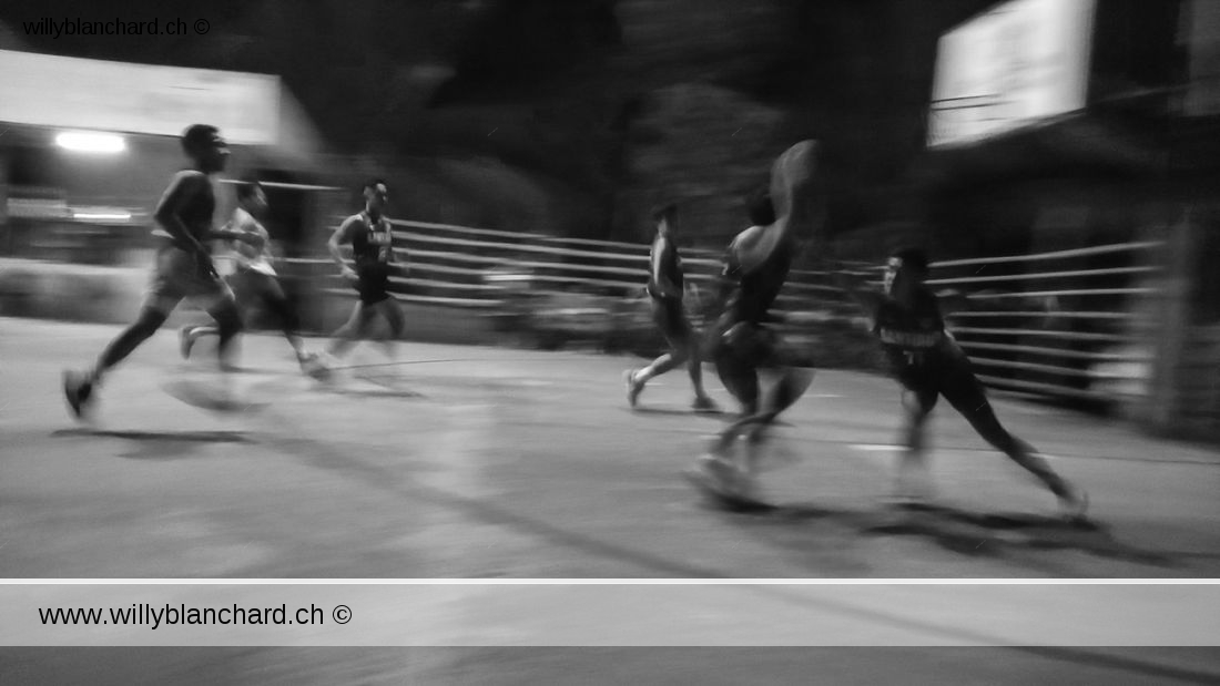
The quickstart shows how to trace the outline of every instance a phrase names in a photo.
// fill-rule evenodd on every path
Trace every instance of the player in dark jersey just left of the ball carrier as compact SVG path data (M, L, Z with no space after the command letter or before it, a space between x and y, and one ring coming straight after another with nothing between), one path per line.
M673 241L673 234L677 232L677 206L666 205L658 210L653 213L653 221L656 222L656 240L653 242L653 251L649 255L647 291L651 301L653 322L665 336L665 341L670 344L670 351L643 369L623 372L623 381L627 384L627 402L636 407L636 401L649 379L660 377L686 362L687 372L691 374L691 385L694 386L693 407L698 412L714 412L716 402L708 397L708 392L703 389L703 359L699 356L699 338L692 330L686 311L682 308L682 296L684 295L682 258L678 257L678 246Z

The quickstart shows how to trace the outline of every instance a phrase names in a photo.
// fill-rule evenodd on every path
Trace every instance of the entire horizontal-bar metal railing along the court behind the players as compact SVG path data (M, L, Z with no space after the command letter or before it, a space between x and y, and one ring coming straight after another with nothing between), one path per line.
M536 317L595 319L598 312L621 312L622 302L642 300L648 279L647 244L426 222L392 224L395 253L406 264L406 275L393 278L392 288L409 302L492 314L527 296ZM988 385L1113 401L1142 392L1141 384L1147 381L1152 353L1142 347L1146 322L1138 302L1155 294L1148 279L1158 274L1153 251L1160 245L1132 241L937 262L928 284L964 291L974 305L948 322ZM695 299L705 300L720 271L719 251L683 249L682 255ZM848 267L880 281L878 266ZM325 291L350 295L338 275L327 277ZM826 269L793 269L776 305L789 314L784 333L797 336L817 339L827 322L860 319L844 294L831 285Z

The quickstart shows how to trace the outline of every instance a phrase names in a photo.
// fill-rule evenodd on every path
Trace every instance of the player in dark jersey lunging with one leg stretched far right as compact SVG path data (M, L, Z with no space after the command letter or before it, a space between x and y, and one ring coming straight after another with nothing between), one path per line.
M1066 518L1083 518L1088 508L1085 491L1055 473L1033 446L1009 434L996 418L965 351L944 328L941 301L924 284L927 274L924 251L903 249L889 257L884 292L863 290L845 275L839 279L872 320L872 333L903 386L906 450L899 463L897 497L910 501L925 496L913 479L922 483L924 429L937 400L944 396L983 440L1046 484Z

